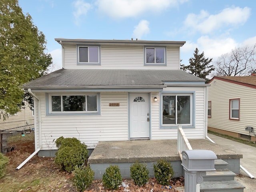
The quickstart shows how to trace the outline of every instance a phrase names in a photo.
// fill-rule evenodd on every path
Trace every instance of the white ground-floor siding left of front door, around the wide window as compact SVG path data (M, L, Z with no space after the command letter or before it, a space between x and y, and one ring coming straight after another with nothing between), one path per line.
M96 116L46 116L45 94L36 95L41 102L42 150L57 149L55 140L60 136L76 137L88 148L99 141L128 140L127 93L101 93L101 115Z

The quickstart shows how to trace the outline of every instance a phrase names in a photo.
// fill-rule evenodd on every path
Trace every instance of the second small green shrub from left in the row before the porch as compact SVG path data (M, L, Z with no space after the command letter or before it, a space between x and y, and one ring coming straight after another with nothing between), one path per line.
M117 189L122 183L119 166L110 165L102 176L102 184L108 189Z

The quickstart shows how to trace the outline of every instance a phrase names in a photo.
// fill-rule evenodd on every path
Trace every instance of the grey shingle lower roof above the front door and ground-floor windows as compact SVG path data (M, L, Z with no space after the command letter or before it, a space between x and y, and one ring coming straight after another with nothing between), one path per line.
M155 86L164 82L204 82L182 70L60 69L32 80L31 86Z

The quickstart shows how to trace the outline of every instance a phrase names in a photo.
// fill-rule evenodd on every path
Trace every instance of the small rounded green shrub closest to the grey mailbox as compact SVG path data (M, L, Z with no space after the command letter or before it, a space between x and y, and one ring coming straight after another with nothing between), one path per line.
M159 160L157 164L154 164L154 175L160 184L170 184L173 174L174 171L170 162L166 160Z

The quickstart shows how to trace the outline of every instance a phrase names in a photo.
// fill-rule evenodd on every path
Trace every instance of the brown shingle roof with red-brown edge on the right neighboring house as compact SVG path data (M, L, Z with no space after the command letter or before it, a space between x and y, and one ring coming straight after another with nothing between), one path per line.
M216 76L214 78L236 84L242 84L244 86L256 86L256 76Z

